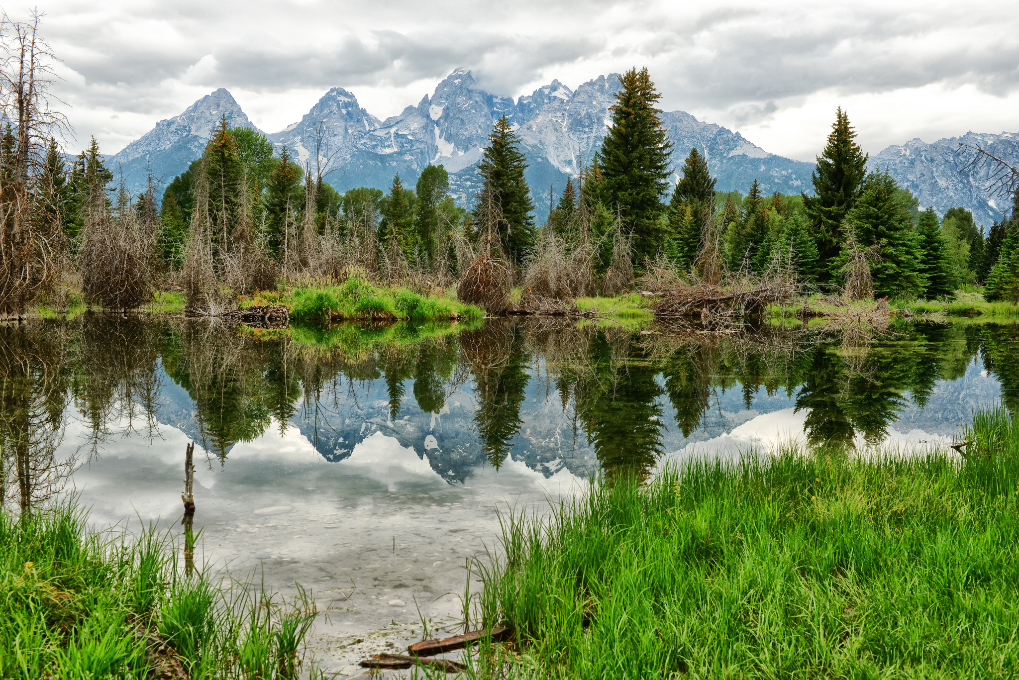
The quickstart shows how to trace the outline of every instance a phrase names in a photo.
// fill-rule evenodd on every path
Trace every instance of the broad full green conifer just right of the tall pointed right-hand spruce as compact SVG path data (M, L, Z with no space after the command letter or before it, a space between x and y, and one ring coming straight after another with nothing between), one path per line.
M898 195L899 185L888 172L867 175L863 191L847 213L861 245L880 244L880 261L871 265L874 294L878 297L909 297L923 291L918 268L918 244L910 214ZM823 255L818 255L824 261ZM845 263L838 258L836 266Z

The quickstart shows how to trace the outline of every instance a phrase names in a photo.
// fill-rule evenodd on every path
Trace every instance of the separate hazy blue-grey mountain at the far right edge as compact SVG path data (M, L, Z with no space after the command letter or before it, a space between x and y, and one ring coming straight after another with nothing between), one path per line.
M900 185L920 199L920 207L933 207L938 215L962 206L973 213L977 224L990 226L1011 210L1011 201L987 196L987 168L970 160L980 147L1012 162L1019 159L1019 133L977 135L941 139L925 144L914 138L902 146L891 146L870 159L872 168L888 169Z

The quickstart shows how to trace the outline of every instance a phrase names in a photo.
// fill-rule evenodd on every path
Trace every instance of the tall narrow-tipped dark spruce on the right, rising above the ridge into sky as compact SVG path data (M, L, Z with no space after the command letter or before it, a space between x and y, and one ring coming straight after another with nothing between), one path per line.
M812 175L814 196L802 195L822 263L836 261L844 238L843 219L853 208L867 176L869 156L855 140L856 132L849 124L849 116L839 107L827 146L817 157L817 168ZM836 271L821 271L822 281L832 280Z

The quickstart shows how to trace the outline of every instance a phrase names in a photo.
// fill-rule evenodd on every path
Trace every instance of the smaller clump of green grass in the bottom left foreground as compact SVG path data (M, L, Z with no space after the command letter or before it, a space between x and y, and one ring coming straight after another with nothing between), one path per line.
M310 598L183 576L171 547L93 532L71 506L0 511L0 678L145 678L174 658L192 678L297 677Z

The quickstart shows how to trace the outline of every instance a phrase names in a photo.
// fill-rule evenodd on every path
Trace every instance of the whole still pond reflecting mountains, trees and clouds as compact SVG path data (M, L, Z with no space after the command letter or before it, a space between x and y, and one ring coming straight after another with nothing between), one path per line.
M499 515L593 475L782 440L923 447L1019 407L1019 326L880 338L548 319L252 329L86 315L0 327L2 501L196 529L212 568L314 591L314 645L366 653L463 618Z

